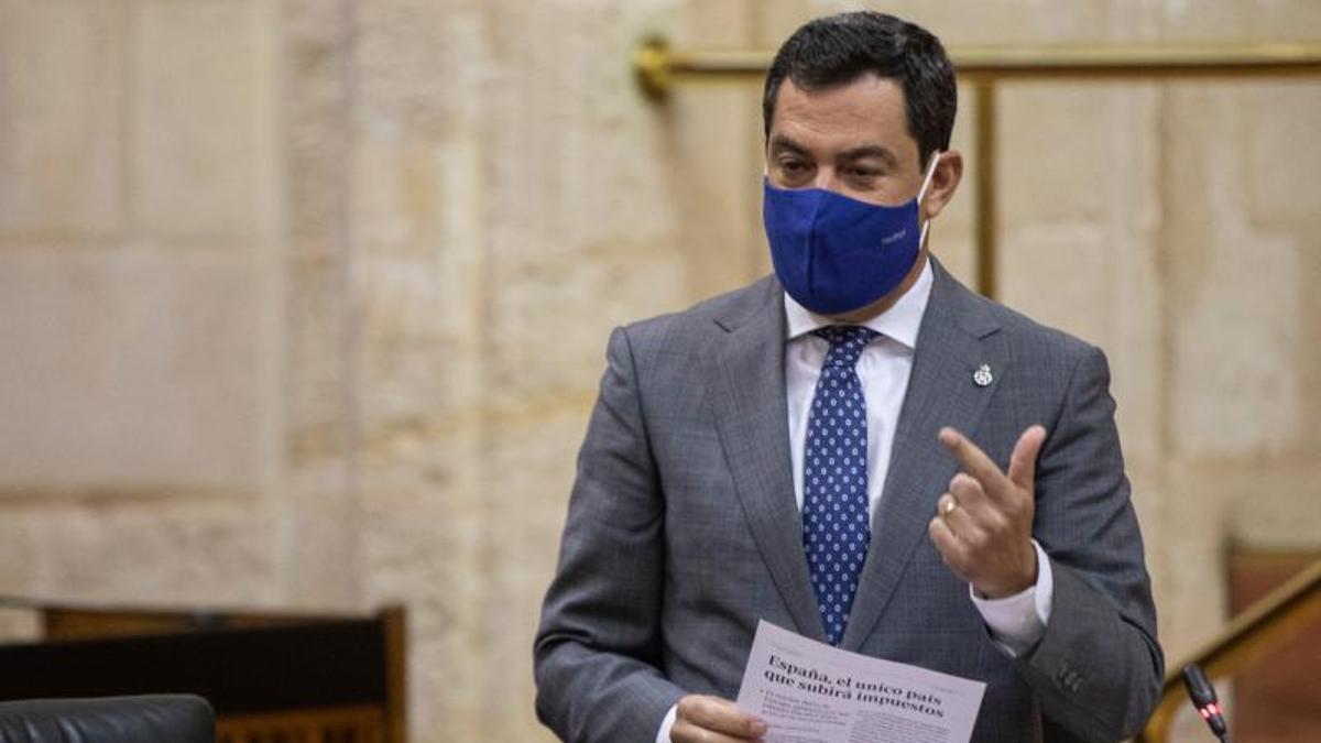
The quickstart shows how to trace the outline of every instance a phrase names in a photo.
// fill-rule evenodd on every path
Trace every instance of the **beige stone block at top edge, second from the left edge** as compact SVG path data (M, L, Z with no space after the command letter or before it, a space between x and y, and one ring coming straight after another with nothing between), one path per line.
M276 5L129 4L135 226L174 242L262 239L276 227Z

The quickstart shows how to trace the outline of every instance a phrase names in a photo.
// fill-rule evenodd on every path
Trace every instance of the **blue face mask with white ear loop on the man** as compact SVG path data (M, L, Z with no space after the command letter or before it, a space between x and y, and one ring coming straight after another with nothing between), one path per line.
M818 315L867 307L894 291L917 262L927 225L918 204L935 173L901 206L867 204L819 188L779 189L768 178L762 221L779 283Z

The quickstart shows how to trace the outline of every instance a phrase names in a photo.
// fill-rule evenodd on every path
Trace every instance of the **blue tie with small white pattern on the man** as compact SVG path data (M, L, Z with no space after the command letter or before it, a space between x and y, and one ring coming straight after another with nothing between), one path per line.
M867 518L867 401L857 358L876 332L856 325L815 331L830 341L807 414L803 451L803 547L826 639L839 645L857 591Z

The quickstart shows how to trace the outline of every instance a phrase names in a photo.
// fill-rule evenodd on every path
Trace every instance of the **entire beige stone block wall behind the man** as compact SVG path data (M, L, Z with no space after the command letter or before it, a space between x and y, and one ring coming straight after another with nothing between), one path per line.
M609 328L768 270L757 86L657 106L630 50L856 5L0 0L0 592L403 602L416 740L546 739ZM951 46L1321 36L1310 0L885 8ZM1172 658L1227 539L1321 541L1317 120L1316 81L1003 93L1003 299L1110 353Z

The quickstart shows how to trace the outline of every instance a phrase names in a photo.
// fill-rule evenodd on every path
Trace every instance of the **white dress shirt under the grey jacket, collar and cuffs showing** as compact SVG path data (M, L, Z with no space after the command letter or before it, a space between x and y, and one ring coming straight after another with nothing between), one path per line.
M908 391L909 374L913 372L913 354L917 350L918 329L922 315L931 296L934 275L930 260L922 267L922 274L913 287L889 309L863 323L878 336L863 349L857 360L857 377L863 383L863 399L867 402L867 509L876 518L876 508L885 487L885 476L890 467L890 452L894 450L894 428ZM785 295L785 316L789 337L785 342L785 393L789 406L789 443L794 465L794 498L803 508L803 448L807 442L807 411L816 391L816 379L830 350L826 338L812 334L812 331L836 324L830 317L816 315ZM931 502L939 493L931 493ZM935 516L934 506L931 516ZM1041 545L1033 539L1037 550L1037 583L1020 594L1004 599L983 599L968 587L972 604L991 631L991 637L1009 656L1017 656L1032 648L1050 620L1050 599L1054 580L1050 575L1050 561ZM806 559L806 558L804 558ZM660 730L658 743L668 743L670 727L674 724L675 709L671 707Z

